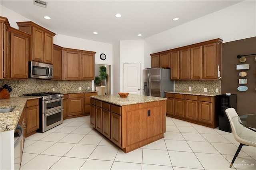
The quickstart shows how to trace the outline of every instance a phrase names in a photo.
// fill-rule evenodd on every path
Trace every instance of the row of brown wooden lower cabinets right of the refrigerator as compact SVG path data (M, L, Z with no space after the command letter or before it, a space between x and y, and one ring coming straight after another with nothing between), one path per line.
M217 97L165 94L167 98L166 116L206 127L218 127L218 114L215 109Z

